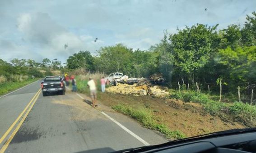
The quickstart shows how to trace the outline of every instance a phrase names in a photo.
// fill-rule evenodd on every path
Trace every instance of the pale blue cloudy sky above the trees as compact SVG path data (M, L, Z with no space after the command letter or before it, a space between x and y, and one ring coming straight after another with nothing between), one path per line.
M80 50L97 55L117 43L147 50L164 30L243 26L253 11L256 0L0 0L0 58L65 63Z

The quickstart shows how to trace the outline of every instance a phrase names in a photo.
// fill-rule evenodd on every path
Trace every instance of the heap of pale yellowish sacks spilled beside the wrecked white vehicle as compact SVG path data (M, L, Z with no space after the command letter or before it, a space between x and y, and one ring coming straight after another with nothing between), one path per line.
M133 94L133 95L147 95L149 94L149 91L150 91L150 95L153 95L159 98L166 97L170 94L165 90L161 90L160 86L158 85L155 85L153 87L148 87L147 85L138 86L137 84L128 85L128 84L120 84L120 83L117 83L116 86L106 88L106 91L112 94L118 93L118 94Z

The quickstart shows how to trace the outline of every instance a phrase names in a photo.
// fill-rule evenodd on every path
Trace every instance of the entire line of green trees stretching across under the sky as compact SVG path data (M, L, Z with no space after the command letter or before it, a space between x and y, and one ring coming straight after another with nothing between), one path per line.
M177 29L175 34L165 31L163 39L148 50L116 44L101 47L97 55L79 51L69 56L65 67L57 58L45 58L42 63L14 58L10 65L16 72L22 72L21 67L40 67L82 68L107 74L122 72L130 77L162 73L172 88L177 88L178 81L184 88L188 84L195 88L197 82L201 90L208 90L209 85L213 92L219 91L218 81L222 79L223 92L235 93L240 86L241 91L248 94L256 87L256 12L247 15L246 20L242 26L232 24L221 30L218 30L218 24L195 24ZM5 63L0 62L1 65Z

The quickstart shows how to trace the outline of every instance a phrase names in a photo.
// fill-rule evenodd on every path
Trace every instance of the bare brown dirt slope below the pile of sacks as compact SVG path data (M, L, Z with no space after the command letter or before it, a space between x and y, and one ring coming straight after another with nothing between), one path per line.
M217 116L210 116L198 103L109 93L100 93L100 101L110 107L126 104L133 108L151 108L154 115L160 118L159 122L165 122L171 130L180 130L188 137L220 130L245 128L237 122L224 122Z

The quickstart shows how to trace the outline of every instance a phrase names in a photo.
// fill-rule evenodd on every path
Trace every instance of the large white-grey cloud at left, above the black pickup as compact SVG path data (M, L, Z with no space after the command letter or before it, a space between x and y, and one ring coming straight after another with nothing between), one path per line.
M104 44L102 40L94 42L90 35L75 35L58 25L48 14L21 14L17 22L18 30L30 46L37 48L35 50L41 59L60 58L65 62L65 58L79 50L94 51ZM26 56L33 57L29 54Z

